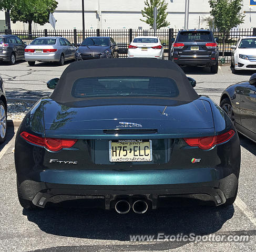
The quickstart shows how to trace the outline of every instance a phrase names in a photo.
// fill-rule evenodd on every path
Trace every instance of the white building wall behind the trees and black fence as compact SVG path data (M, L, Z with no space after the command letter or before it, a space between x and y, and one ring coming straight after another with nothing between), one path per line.
M86 29L148 29L149 26L140 21L143 19L141 9L144 0L84 0ZM185 0L165 0L168 3L166 28L181 29L184 27ZM256 5L250 6L250 0L243 0L242 12L245 13L244 23L239 28L256 27ZM199 23L203 17L210 15L208 0L190 0L189 28L208 28L206 23ZM81 29L81 0L58 0L54 13L57 19L56 29ZM99 18L100 17L100 18ZM0 20L4 20L4 12L0 12ZM12 24L12 29L27 29L28 25L21 22ZM33 24L33 29L52 29L50 24L40 26Z

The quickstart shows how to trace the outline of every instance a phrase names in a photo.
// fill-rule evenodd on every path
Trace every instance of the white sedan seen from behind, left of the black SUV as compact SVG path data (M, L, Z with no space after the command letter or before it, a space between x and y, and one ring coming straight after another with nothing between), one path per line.
M157 58L163 59L163 46L158 37L135 37L128 47L128 58Z

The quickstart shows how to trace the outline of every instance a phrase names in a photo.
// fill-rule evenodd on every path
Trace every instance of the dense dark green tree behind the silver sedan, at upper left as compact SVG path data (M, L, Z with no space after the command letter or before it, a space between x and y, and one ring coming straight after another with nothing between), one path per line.
M50 12L54 12L58 2L55 0L17 0L11 8L11 19L28 23L28 34L32 34L32 22L44 25L49 21Z

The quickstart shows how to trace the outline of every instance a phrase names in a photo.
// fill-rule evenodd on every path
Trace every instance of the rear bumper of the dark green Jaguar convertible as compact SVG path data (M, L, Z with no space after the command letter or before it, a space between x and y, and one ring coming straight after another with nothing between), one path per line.
M138 196L145 198L153 209L171 197L194 198L221 205L234 196L238 185L237 176L233 173L227 175L228 170L227 167L139 171L45 170L30 173L22 181L21 191L25 199L40 207L45 207L47 202L59 203L69 199L88 199L91 202L95 199L95 202L101 202L99 207L111 209L117 198L132 200Z

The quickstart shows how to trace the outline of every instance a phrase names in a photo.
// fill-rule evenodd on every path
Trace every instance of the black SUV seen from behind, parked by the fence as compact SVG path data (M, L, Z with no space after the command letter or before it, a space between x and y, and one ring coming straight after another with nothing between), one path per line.
M212 73L218 72L219 48L211 30L180 30L171 55L180 66L209 66Z

